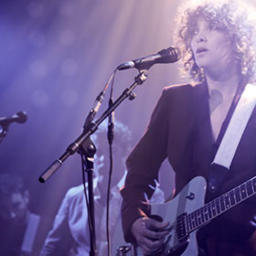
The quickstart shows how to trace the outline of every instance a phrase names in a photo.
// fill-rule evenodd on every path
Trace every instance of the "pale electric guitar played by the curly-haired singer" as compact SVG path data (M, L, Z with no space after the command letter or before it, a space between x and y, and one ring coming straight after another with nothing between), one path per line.
M170 233L161 251L154 256L197 256L197 230L220 214L256 194L256 176L204 204L207 182L204 177L192 179L181 192L164 204L151 205L153 215L169 221ZM122 246L117 256L144 255L138 245Z

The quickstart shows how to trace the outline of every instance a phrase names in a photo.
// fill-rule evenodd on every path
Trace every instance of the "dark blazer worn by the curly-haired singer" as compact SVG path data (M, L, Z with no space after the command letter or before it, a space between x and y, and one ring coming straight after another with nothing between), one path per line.
M222 125L222 133L223 129L225 130L225 125ZM256 174L255 132L254 110L229 174L218 194ZM147 205L142 203L145 200L144 193L150 197L154 192L149 185L155 185L154 180L157 179L159 167L165 158L168 158L175 170L178 193L195 176L204 176L208 180L214 145L207 84L166 87L155 106L144 136L127 159L128 175L122 190L123 231L127 241L134 240L131 233L133 221L150 212ZM250 226L250 220L256 214L255 203L248 200L243 206L230 210L221 218L241 222L243 227ZM241 210L246 211L242 219L238 218ZM251 234L251 229L249 233Z

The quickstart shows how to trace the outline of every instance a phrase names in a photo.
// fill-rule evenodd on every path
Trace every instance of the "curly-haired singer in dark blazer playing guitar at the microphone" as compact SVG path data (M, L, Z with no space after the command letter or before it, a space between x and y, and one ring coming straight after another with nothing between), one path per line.
M239 115L242 121L238 123L244 122L245 128L234 126L238 111L250 111L248 102L240 105L240 100L248 83L256 79L256 23L252 20L256 10L245 1L195 2L187 1L176 19L176 46L182 52L183 75L191 82L165 88L144 136L127 159L123 232L125 240L135 242L135 250L144 255L174 255L179 246L183 252L177 255L256 255L256 198L247 198L256 192L256 186L248 182L240 187L256 175L255 91L250 93L254 105L248 120ZM227 128L235 136L224 142L222 139L230 135ZM238 133L240 141L235 144ZM225 162L225 152L220 155L224 164L219 164L220 144L235 149L230 165ZM190 219L170 223L171 214L186 216L187 205L197 204L204 190L187 194L184 201L179 200L181 194L174 198L179 201L176 208L169 209L171 214L161 222L153 219L145 195L152 196L165 158L176 173L175 196L186 193L182 189L187 183L191 184L187 190L197 191L191 182L196 176L207 181L205 203L224 196ZM234 187L238 188L225 194ZM207 225L195 233L193 229L201 223ZM187 247L183 247L184 239Z

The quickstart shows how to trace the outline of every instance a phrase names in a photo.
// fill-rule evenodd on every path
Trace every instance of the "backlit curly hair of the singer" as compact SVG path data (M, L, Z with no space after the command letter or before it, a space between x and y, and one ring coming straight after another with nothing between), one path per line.
M181 9L177 17L180 26L176 32L176 45L183 52L182 73L189 74L190 79L202 82L205 79L204 70L197 66L194 59L191 40L199 17L206 19L210 27L219 29L229 36L233 42L233 52L239 62L241 80L245 83L256 81L255 75L255 28L253 8L244 2L232 0L201 1L201 4L191 5L184 12ZM195 1L194 1L195 2Z

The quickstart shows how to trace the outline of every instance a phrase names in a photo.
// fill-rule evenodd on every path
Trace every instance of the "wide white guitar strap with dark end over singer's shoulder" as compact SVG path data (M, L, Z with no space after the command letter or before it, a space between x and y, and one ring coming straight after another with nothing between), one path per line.
M208 189L210 192L216 192L219 185L228 174L229 167L237 151L241 136L245 131L247 123L249 122L255 104L256 86L248 83L245 86L238 103L236 104L235 101L232 102L230 111L225 122L223 123L225 127L225 123L229 122L228 127L222 137L222 140L221 134L217 140L217 143L219 140L221 140L221 142L209 172Z

